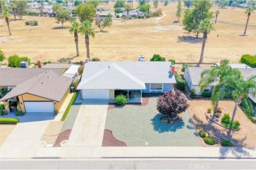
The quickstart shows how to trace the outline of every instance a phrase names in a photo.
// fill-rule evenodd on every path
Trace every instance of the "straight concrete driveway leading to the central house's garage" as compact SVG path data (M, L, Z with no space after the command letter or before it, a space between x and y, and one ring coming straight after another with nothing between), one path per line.
M102 146L108 100L84 100L67 146Z

